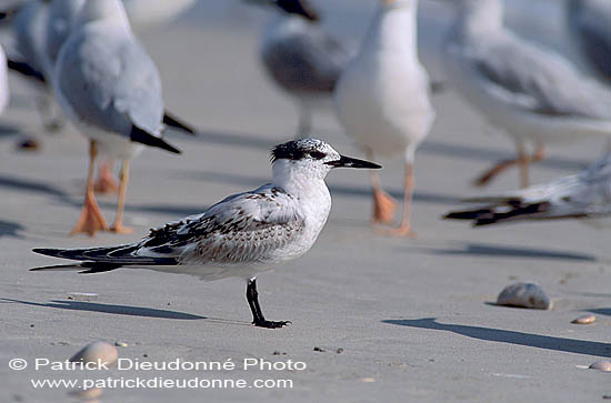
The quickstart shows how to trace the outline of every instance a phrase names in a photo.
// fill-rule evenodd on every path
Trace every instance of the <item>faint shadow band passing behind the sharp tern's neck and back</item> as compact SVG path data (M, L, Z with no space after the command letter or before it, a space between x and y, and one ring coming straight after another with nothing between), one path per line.
M257 178L241 175L237 173L228 172L211 172L211 171L174 171L174 178L180 179L192 179L196 181L207 181L207 182L219 182L219 183L233 183L241 187L247 187L249 189L254 189L260 187L263 183L269 183L269 178ZM348 195L348 197L360 197L360 198L371 198L371 189L369 187L347 187L338 184L329 184L329 191L334 195ZM400 190L388 190L387 192L395 198L401 200L403 198L403 192ZM414 203L434 203L443 205L455 205L459 202L459 198L439 193L421 192L417 191L413 194Z

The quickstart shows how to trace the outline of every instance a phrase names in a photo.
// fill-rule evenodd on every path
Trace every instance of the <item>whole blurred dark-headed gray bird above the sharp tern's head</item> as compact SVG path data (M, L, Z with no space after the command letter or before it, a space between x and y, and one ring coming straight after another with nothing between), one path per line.
M306 0L249 1L282 10L266 28L261 60L273 81L296 100L297 137L308 137L312 110L331 98L349 53L320 27L318 13Z

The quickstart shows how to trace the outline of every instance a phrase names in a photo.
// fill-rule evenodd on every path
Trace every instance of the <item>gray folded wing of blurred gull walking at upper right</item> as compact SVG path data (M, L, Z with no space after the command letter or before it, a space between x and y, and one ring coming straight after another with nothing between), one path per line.
M611 91L580 74L560 54L509 32L481 42L461 57L494 95L533 113L611 119Z

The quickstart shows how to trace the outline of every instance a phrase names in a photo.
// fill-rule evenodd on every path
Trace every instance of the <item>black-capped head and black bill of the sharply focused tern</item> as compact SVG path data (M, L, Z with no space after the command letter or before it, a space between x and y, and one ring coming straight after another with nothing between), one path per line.
M274 178L301 175L324 179L333 168L382 168L369 161L342 155L318 139L300 139L276 145L271 150L271 162Z

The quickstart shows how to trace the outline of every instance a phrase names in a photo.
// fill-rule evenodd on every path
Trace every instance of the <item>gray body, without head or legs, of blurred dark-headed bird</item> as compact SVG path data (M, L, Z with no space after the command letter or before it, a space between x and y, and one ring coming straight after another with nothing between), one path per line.
M273 79L287 91L297 92L333 91L349 60L338 41L308 22L264 42L261 57Z

